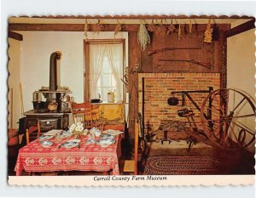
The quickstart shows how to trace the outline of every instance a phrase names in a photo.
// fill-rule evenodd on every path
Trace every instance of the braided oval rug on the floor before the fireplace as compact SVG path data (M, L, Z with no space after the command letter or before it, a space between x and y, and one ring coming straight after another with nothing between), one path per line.
M220 163L212 156L148 156L146 175L219 174Z

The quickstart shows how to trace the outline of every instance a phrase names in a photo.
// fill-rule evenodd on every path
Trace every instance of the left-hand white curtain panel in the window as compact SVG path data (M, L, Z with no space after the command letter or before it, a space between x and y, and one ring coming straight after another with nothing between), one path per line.
M102 73L105 52L104 45L90 46L90 99L99 99L97 82Z

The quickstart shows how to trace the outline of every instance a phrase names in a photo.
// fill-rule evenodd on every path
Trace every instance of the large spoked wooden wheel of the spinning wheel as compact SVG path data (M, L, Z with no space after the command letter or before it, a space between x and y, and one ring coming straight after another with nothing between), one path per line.
M255 105L241 90L209 93L201 105L201 124L208 139L221 149L236 150L255 143Z

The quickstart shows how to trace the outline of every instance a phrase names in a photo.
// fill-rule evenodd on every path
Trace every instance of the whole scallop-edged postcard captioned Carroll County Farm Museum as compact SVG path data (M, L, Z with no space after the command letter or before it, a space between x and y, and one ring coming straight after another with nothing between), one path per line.
M9 184L254 184L254 23L10 16Z

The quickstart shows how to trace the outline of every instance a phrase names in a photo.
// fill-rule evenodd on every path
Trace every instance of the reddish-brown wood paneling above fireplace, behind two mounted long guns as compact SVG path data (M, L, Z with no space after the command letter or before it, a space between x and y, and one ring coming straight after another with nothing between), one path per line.
M224 30L219 28L218 34L223 35ZM228 27L228 26L226 26ZM151 55L152 57L152 70L147 70L143 72L219 72L219 59L221 55L219 54L219 48L221 48L222 42L212 41L212 43L206 43L204 39L204 31L207 25L193 25L193 31L189 34L188 25L181 25L182 37L180 41L177 41L177 31L169 35L157 35L153 32L153 39L150 50L156 50L160 48L201 48L201 49L178 49L170 50L165 52L160 52L158 54ZM147 50L147 49L146 49ZM168 62L159 61L159 59L193 59L195 61L201 62L203 65L208 65L210 62L211 67L206 68L202 65L191 64L188 62ZM147 55L143 55L143 61L148 61ZM156 66L161 65L161 66ZM210 66L209 65L209 66Z

